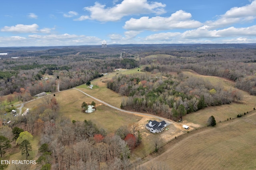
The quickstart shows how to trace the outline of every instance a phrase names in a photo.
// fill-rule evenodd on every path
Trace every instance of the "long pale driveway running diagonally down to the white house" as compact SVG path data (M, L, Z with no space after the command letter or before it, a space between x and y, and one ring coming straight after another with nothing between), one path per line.
M76 88L73 88L73 89L76 89ZM107 106L109 106L109 107L111 107L111 108L113 108L113 109L116 109L116 110L118 110L118 111L121 111L121 112L154 117L154 118L160 119L160 120L162 120L162 121L165 121L165 122L167 123L167 125L176 123L176 122L170 121L170 120L168 120L168 119L164 119L164 118L159 117L159 116L156 116L156 115L150 115L150 114L146 114L146 113L139 113L139 112L126 111L126 110L120 109L120 108L118 108L118 107L114 107L114 106L112 106L112 105L110 105L110 104L108 104L108 103L106 103L106 102L104 102L104 101L102 101L102 100L100 100L100 99L97 99L97 98L95 98L95 97L93 97L93 96L91 96L91 95L85 93L85 92L82 91L82 90L79 90L79 89L76 89L76 90L78 90L78 91L84 93L85 95L91 97L92 99L94 99L94 100L96 100L96 101L99 101L100 103L103 103L104 105L107 105Z

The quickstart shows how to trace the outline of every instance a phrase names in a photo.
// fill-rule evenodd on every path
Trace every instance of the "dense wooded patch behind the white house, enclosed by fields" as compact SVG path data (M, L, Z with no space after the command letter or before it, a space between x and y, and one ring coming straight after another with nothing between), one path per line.
M118 75L108 81L107 87L129 96L122 103L124 109L159 114L174 120L206 106L230 104L242 99L238 91L214 87L200 78L184 77L182 73L177 77L167 76L147 73Z

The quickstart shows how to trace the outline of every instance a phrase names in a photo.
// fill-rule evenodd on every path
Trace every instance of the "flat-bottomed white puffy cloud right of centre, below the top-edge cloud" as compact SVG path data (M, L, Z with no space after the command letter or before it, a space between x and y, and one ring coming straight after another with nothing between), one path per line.
M191 14L183 10L176 11L170 17L141 17L140 19L131 18L125 22L126 30L171 30L180 28L198 28L202 24L191 20Z

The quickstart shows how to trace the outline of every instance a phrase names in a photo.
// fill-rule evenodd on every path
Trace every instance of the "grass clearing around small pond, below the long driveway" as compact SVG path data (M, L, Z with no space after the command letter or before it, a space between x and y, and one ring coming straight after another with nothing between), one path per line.
M137 122L141 119L140 116L116 111L106 105L102 105L75 89L61 91L55 97L60 105L61 116L68 117L70 121L91 120L97 127L105 128L108 132L114 132L121 126L128 126L132 122ZM86 103L94 101L96 103L96 111L93 113L82 112L81 105L84 101Z

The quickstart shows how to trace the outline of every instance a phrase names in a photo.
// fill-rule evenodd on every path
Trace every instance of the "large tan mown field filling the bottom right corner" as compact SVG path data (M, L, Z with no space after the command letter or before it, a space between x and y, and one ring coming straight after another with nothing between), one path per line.
M167 169L256 169L256 112L184 134L150 155L141 167ZM154 156L157 156L154 158Z

